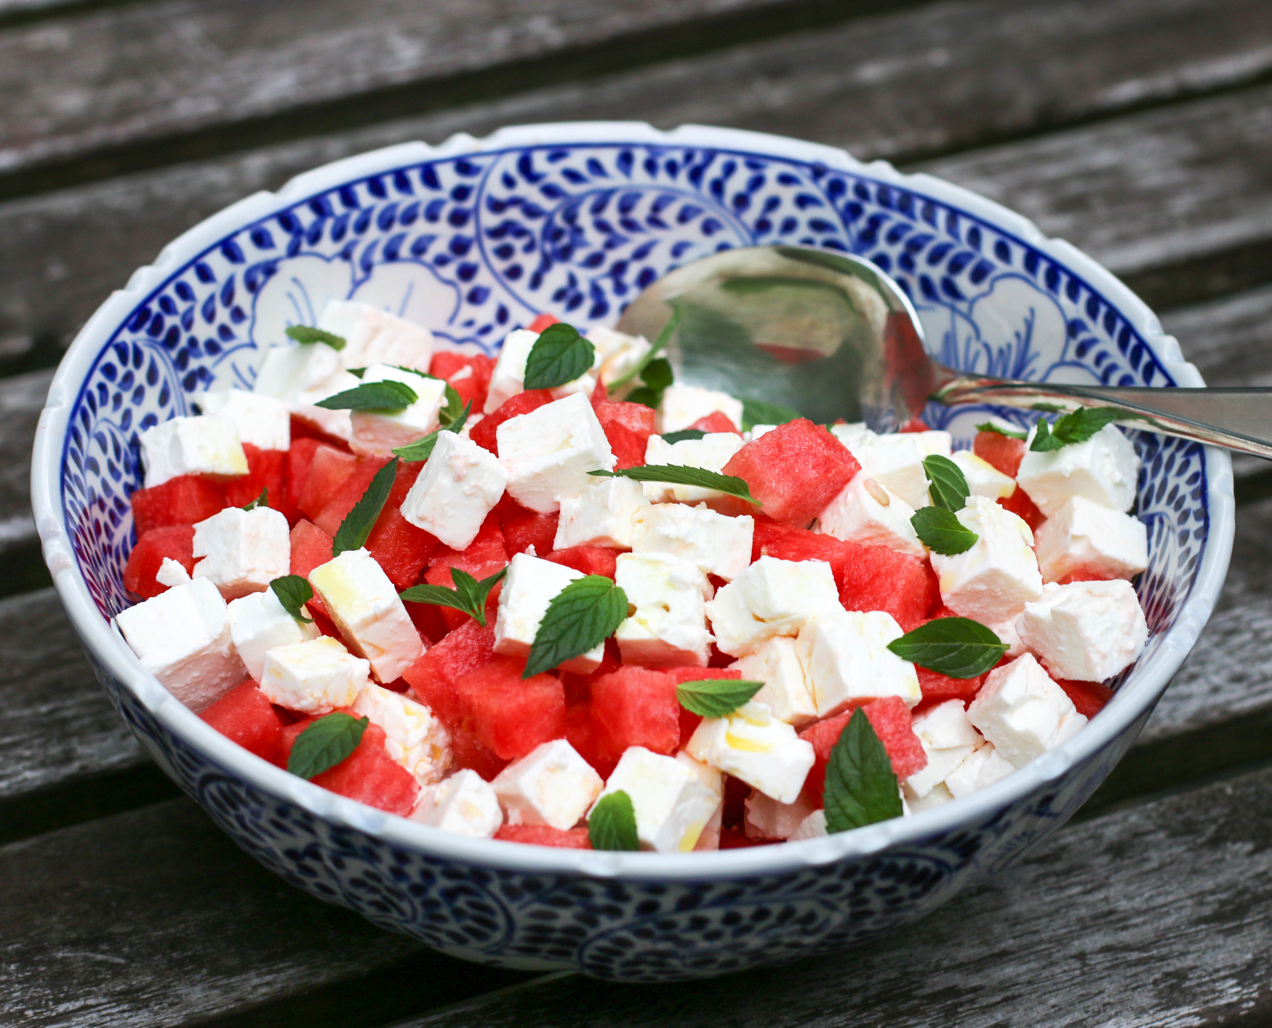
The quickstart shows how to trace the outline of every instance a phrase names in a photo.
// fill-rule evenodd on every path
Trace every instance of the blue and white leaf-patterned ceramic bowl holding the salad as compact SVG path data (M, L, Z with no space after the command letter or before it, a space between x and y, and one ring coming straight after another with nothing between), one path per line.
M137 433L332 296L494 352L551 310L612 324L645 285L721 247L787 242L871 258L932 352L1053 382L1201 386L1117 279L1023 218L927 176L778 136L599 122L407 144L328 164L221 211L111 296L53 379L32 494L62 603L120 714L244 850L293 884L446 953L502 967L668 981L791 961L921 917L1060 827L1131 746L1227 569L1225 453L1132 434L1152 632L1074 739L972 796L820 840L711 854L473 841L364 807L240 749L177 702L109 618L135 541ZM963 445L983 410L931 408Z

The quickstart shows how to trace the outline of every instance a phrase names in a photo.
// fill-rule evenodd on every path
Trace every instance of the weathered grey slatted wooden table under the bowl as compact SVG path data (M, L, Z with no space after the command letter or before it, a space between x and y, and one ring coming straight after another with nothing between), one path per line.
M291 889L141 756L39 562L51 368L164 242L359 150L695 121L969 186L1272 384L1267 0L0 0L0 1024L1098 1025L1272 1017L1272 472L1142 738L1021 866L868 952L623 987Z

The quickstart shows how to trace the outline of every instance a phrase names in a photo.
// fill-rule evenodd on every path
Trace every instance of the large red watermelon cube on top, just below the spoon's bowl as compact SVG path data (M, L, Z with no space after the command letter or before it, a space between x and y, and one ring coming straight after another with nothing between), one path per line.
M861 464L806 417L780 425L738 450L724 466L750 486L775 522L808 524L848 483Z

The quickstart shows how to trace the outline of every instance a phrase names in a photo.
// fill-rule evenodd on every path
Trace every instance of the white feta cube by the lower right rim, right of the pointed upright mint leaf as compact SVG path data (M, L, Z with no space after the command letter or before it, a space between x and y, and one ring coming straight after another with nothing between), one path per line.
M1015 767L1024 767L1086 724L1030 653L990 672L967 709L967 719Z

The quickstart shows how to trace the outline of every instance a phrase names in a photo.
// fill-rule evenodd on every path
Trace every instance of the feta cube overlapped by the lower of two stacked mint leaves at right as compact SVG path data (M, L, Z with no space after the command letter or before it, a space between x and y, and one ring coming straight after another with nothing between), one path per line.
M962 553L932 553L941 599L954 613L985 623L1006 621L1042 595L1042 573L1029 525L987 496L968 496L954 517L977 534Z

